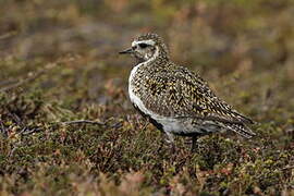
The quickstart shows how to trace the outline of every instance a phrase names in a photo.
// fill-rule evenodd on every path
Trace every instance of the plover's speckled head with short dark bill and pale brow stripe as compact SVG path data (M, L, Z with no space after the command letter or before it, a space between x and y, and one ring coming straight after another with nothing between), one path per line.
M144 34L135 38L132 47L121 51L121 54L132 54L139 62L152 61L157 58L169 59L168 48L157 34Z

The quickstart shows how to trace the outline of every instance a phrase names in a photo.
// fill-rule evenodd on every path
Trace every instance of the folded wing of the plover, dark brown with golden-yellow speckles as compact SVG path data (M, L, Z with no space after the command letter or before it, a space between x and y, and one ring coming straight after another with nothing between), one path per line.
M198 74L185 68L177 66L154 74L147 83L146 107L158 114L241 125L253 123L218 98Z

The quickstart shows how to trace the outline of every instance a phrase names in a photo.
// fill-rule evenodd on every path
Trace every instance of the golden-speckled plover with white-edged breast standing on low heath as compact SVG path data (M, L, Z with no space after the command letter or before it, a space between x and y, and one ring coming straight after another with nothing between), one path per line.
M171 61L157 34L139 35L119 53L136 59L128 77L134 108L166 133L169 143L173 144L174 136L191 137L194 151L200 136L222 130L245 138L256 135L248 126L255 123L252 119L217 97L198 73Z

